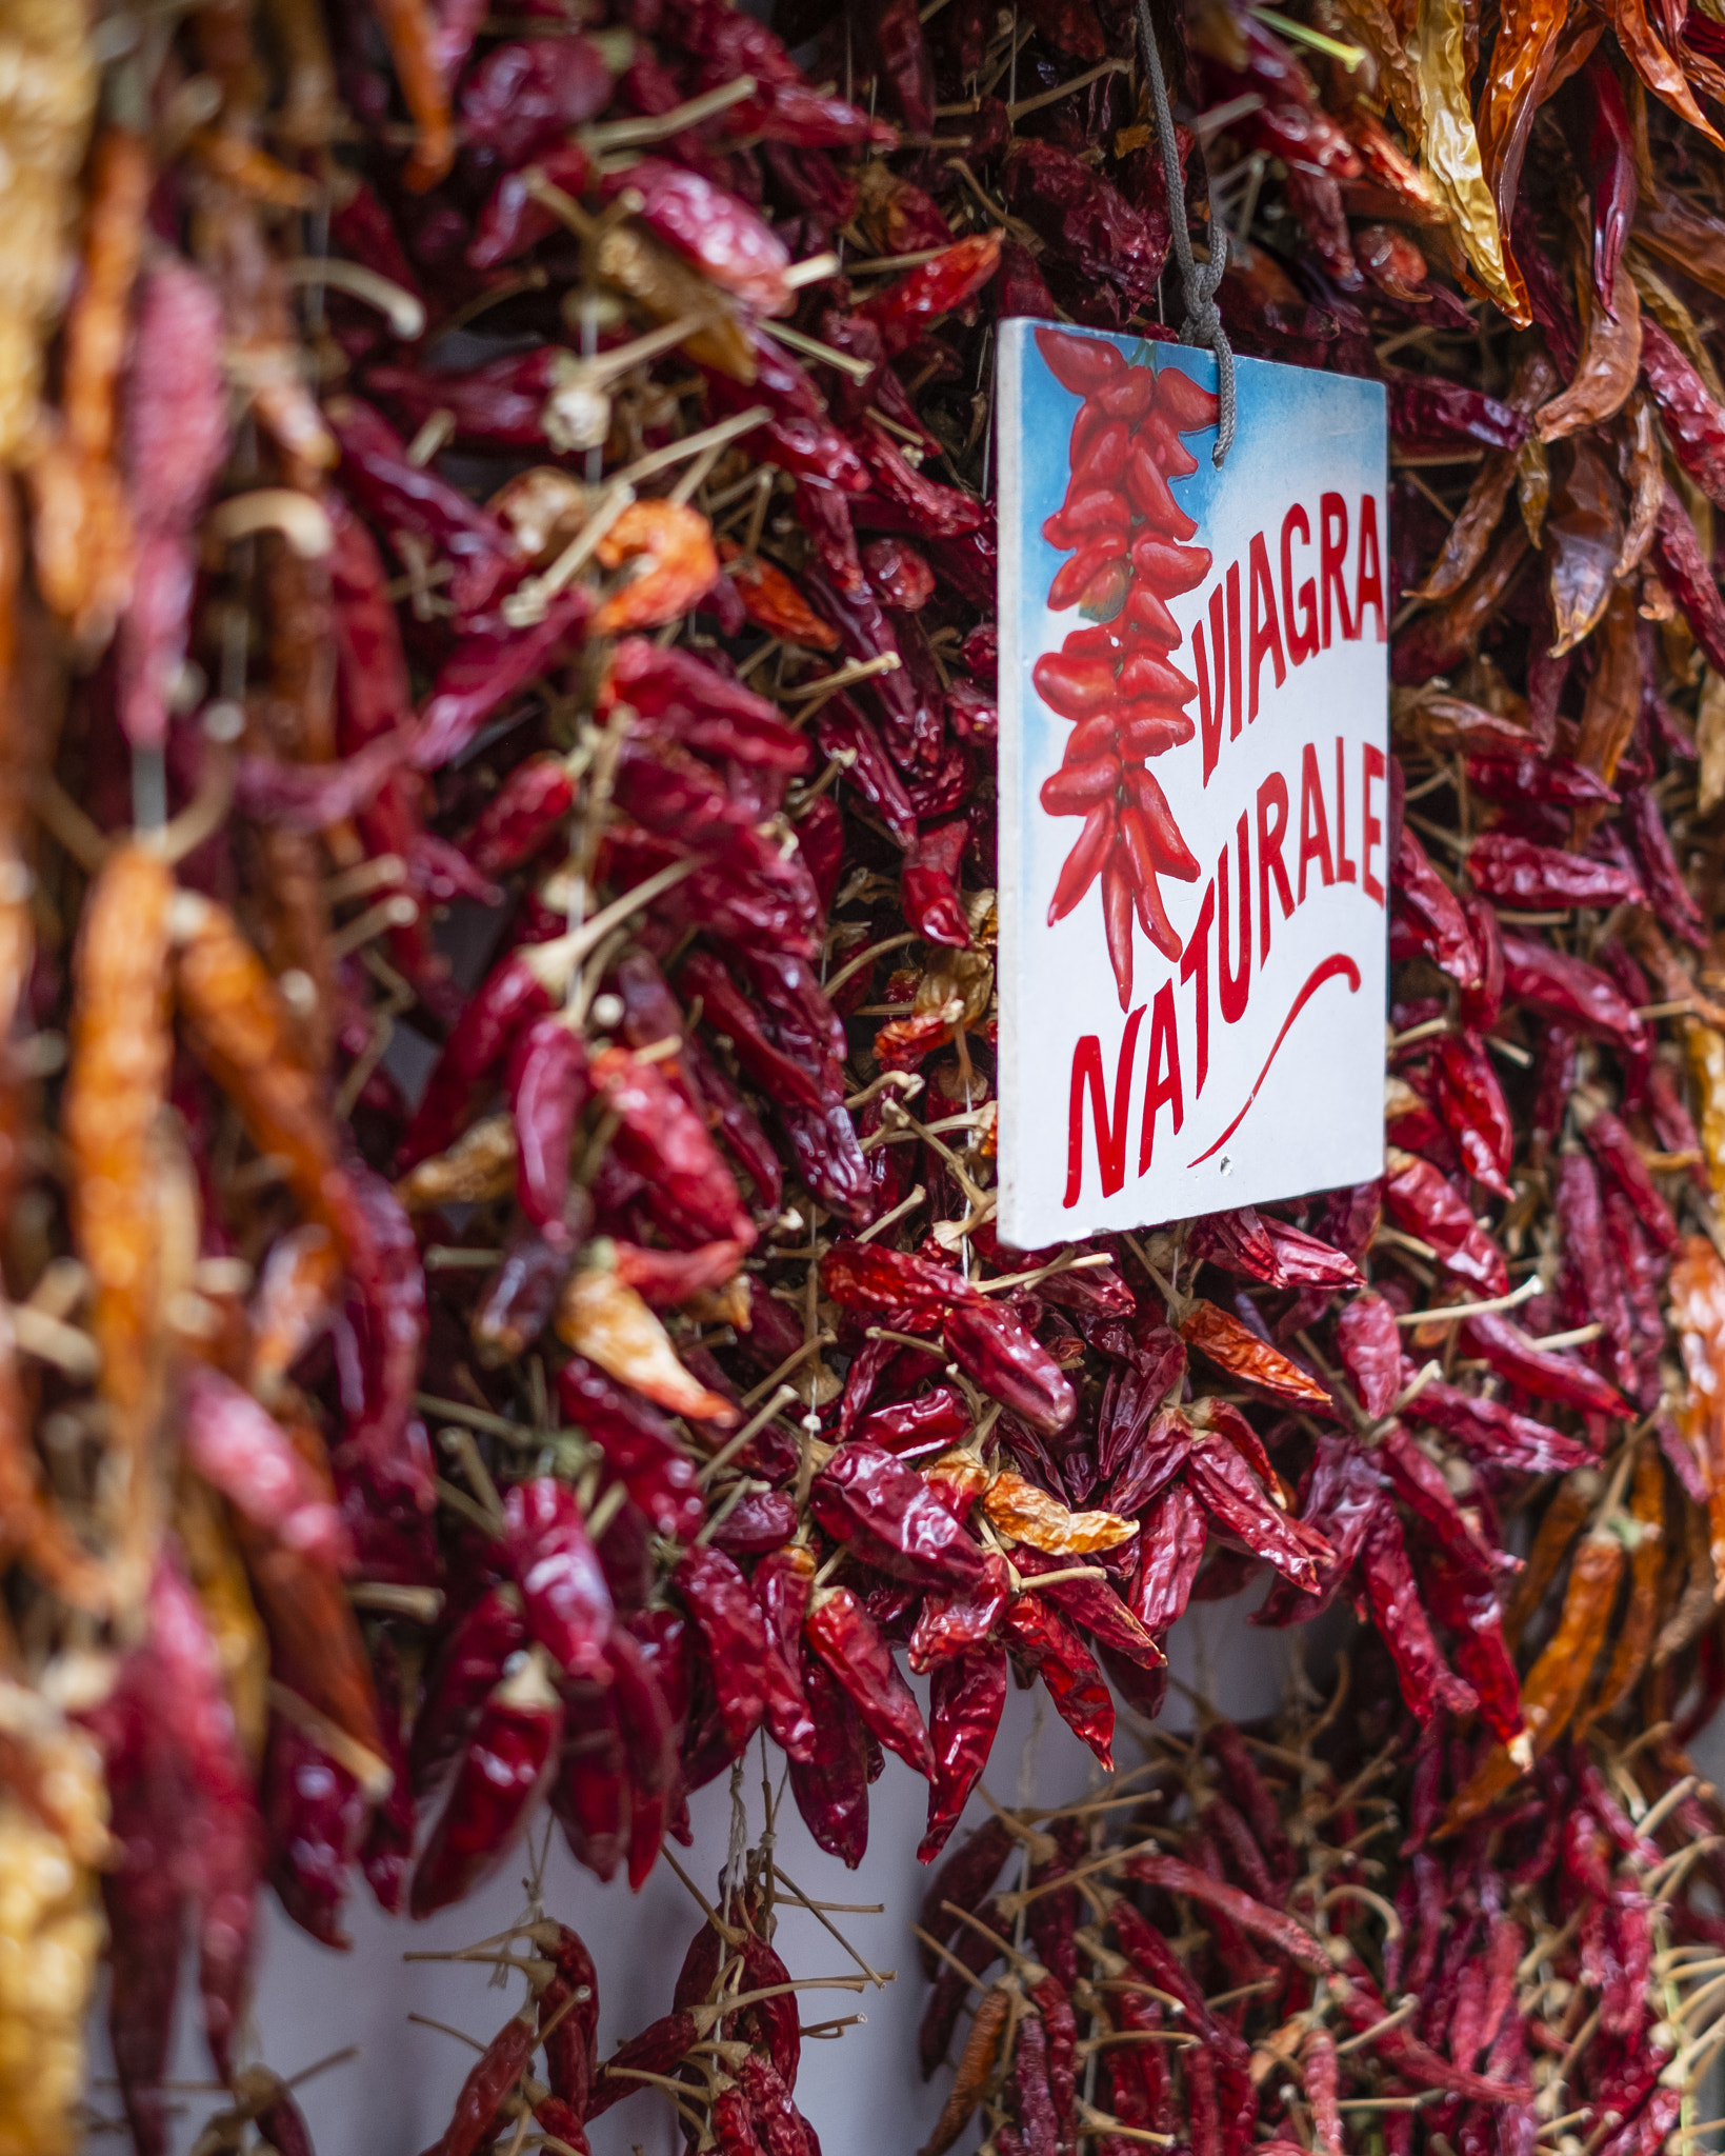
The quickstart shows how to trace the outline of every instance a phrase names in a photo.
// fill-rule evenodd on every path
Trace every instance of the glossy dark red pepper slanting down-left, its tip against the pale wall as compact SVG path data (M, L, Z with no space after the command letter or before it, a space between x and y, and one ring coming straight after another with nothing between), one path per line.
M412 1917L433 1917L472 1893L509 1856L556 1766L563 1703L533 1660L479 1710L448 1802L414 1867Z

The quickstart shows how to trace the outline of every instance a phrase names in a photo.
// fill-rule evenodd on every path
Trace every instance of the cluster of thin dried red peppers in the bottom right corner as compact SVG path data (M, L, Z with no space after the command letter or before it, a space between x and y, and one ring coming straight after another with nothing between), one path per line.
M1490 1736L1408 1744L1384 1658L1270 1725L1201 1714L934 1876L923 2156L983 2145L1658 2156L1719 2018L1719 1798L1667 1733L1574 1740L1490 1813ZM975 1996L972 1996L975 1994Z

